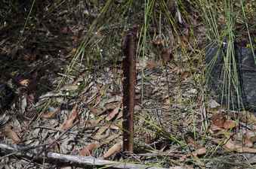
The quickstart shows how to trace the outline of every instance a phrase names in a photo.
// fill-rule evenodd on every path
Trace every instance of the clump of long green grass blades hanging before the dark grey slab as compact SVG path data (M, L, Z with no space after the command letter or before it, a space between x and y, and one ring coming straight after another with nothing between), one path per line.
M248 28L248 20L245 15L245 2L243 1L221 1L221 3L213 1L199 1L198 7L202 11L202 19L207 28L207 37L210 43L208 48L218 47L216 55L208 64L208 72L206 79L210 76L211 71L214 71L214 64L217 57L221 56L224 59L223 66L223 85L221 86L222 98L226 98L227 109L234 109L234 104L237 103L240 109L244 108L242 103L241 80L239 80L239 71L236 65L236 41L243 32L247 32L249 44L252 45L251 35ZM221 19L220 19L221 18ZM246 30L238 29L239 21L245 24ZM239 30L239 31L237 31ZM225 44L224 44L225 43ZM225 53L223 46L226 46ZM254 52L251 49L253 55ZM206 80L207 81L207 80Z

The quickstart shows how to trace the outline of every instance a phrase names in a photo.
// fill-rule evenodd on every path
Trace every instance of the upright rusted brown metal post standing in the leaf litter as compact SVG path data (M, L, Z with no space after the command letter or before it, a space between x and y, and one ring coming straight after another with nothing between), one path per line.
M130 31L125 37L123 52L125 59L122 62L123 68L123 149L132 153L134 149L134 99L136 85L136 59L135 59L135 33Z

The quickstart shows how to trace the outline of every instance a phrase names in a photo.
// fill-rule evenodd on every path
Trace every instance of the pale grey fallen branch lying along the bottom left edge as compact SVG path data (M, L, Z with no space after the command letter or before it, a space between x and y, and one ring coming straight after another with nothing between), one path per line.
M42 161L57 161L60 163L68 163L72 165L82 165L82 166L104 166L110 167L113 169L166 169L162 167L150 167L142 164L131 164L131 163L122 163L117 161L108 161L99 158L94 158L91 156L80 156L80 155L64 155L56 152L47 152L42 155L36 155L33 152L23 153L22 149L26 149L26 146L10 146L4 143L0 143L0 153L8 155L8 153L15 153L16 156L22 156L25 158L36 157L36 160ZM184 169L184 167L170 167L171 169Z

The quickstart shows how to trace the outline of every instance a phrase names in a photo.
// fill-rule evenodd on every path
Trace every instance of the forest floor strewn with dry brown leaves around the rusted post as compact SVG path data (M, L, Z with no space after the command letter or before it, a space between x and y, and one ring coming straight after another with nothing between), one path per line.
M209 97L203 50L168 53L164 62L156 51L137 59L134 154L123 153L122 57L113 59L122 56L122 36L107 36L123 32L119 24L94 32L95 41L110 44L95 43L76 59L99 11L86 8L88 23L79 23L75 8L32 17L26 26L24 14L12 14L0 27L0 83L14 93L0 112L0 168L85 168L48 161L45 152L148 167L254 168L256 117Z

